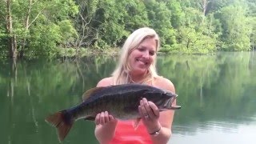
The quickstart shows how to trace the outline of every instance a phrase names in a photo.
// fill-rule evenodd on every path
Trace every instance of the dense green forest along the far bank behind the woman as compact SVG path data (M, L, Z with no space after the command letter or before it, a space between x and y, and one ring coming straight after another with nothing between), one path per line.
M255 0L3 0L0 58L55 57L122 46L142 26L162 52L254 50Z

